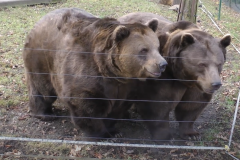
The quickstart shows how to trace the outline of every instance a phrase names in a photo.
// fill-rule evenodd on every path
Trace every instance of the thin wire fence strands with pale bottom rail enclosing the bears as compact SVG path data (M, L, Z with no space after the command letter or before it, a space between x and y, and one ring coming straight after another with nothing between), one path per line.
M200 10L202 11L202 13L206 14L209 19L212 21L212 23L215 25L215 27L219 30L219 32L221 32L222 34L224 34L224 32L220 29L220 27L218 26L218 24L215 22L214 18L212 17L212 14L207 10L207 8L204 6L203 2L201 2L201 7ZM240 42L237 38L235 38L236 41ZM231 44L234 49L239 53L240 55L240 51L239 49L236 47L236 45L234 43ZM31 49L31 48L29 48ZM89 54L89 53L75 53L75 54ZM98 53L98 54L105 54L105 53ZM177 57L164 57L164 58L177 58ZM23 72L22 72L23 74ZM39 74L39 75L49 75L50 73L34 73L34 72L27 72L27 74ZM57 74L52 74L52 75L57 75ZM65 74L64 76L83 76L83 77L89 77L89 78L96 78L96 77L101 77L101 76L91 76L91 75L72 75L72 74ZM106 78L106 77L105 77ZM118 78L118 79L126 79L126 77L107 77L107 78ZM139 78L129 78L129 79L139 79ZM175 81L192 81L192 80L182 80L182 79L155 79L155 80L159 80L159 81L166 81L166 80L175 80ZM31 96L42 96L42 95L31 95ZM44 95L43 95L44 96ZM44 96L44 97L49 97L49 98L57 98L56 96ZM77 98L79 99L79 97L60 97L60 98ZM86 99L86 98L85 98ZM97 98L87 98L87 99L97 99ZM186 103L207 103L207 104L213 104L214 102L203 102L203 101L153 101L153 100L135 100L135 99L109 99L109 98L99 98L100 100L115 100L115 101L131 101L131 102L155 102L155 103L176 103L176 102L186 102ZM34 138L31 137L31 135L21 135L21 136L15 136L14 134L12 136L4 136L4 134L2 134L0 136L0 140L4 140L4 141L25 141L25 142L50 142L50 143L65 143L65 144L81 144L81 145L98 145L98 146L121 146L121 147L140 147L140 148L167 148L167 149L199 149L199 150L223 150L226 151L227 154L231 144L232 144L232 136L234 133L234 127L236 124L236 119L237 119L237 113L238 113L238 107L239 107L239 103L240 103L240 90L238 93L238 98L236 101L236 106L235 106L235 112L234 112L234 116L233 116L233 121L231 123L231 129L230 129L230 137L227 141L223 141L222 143L225 144L225 146L201 146L201 143L204 142L209 142L209 141L203 141L203 140L192 140L191 142L198 142L199 146L192 146L192 145L156 145L156 144L142 144L142 143L114 143L114 142L91 142L91 141L78 141L78 140L67 140L67 136L65 138L62 139L57 139L57 138L53 138L56 137L55 135L50 135L50 138L47 138L46 135L43 135L41 133L34 133ZM56 118L71 118L71 116L51 116L51 117L56 117ZM107 119L107 120L116 120L116 121L134 121L134 122L146 122L146 121L162 121L164 122L164 120L142 120L142 119L114 119L114 118L98 118L98 117L73 117L73 118L81 118L81 119ZM176 123L179 121L175 121L175 120L168 120L167 122L170 123ZM181 121L181 122L192 122L192 121ZM195 121L195 123L204 123L204 121ZM228 123L228 122L207 122L207 123L212 123L212 124L220 124L220 123ZM42 137L42 138L39 138ZM104 138L99 138L99 137L85 137L85 138L95 138L95 139L101 139L103 141L108 141L111 139L104 139ZM161 140L151 140L151 139L143 139L143 138L114 138L117 140L127 140L127 141L143 141L144 143L147 142L157 142L157 141L161 141ZM172 140L173 142L186 142L185 140ZM162 142L168 142L168 141L162 141ZM221 144L222 145L222 144ZM0 154L1 155L1 154ZM2 154L4 155L4 154ZM232 156L231 154L229 154L230 156ZM31 155L28 155L31 156ZM232 156L233 158L237 159L236 157Z

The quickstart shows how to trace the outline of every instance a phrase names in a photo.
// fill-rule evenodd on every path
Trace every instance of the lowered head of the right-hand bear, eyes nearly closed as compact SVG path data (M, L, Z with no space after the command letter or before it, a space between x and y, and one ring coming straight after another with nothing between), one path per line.
M222 85L220 73L226 60L226 47L231 36L216 39L200 29L177 29L166 33L163 56L176 79L189 87L213 94Z

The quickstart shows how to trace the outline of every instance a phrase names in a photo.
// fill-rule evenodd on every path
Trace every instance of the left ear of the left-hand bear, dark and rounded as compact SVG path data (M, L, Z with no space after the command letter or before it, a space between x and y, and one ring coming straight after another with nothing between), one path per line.
M120 42L123 39L127 38L130 35L129 29L127 29L125 26L120 25L117 26L113 31L113 38L116 42Z

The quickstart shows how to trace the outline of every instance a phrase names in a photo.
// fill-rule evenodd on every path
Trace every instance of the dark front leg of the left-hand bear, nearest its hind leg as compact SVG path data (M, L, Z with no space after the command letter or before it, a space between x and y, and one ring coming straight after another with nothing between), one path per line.
M79 96L74 95L72 98L64 99L65 104L70 108L72 121L87 134L84 139L96 141L111 137L103 122L103 118L107 117L111 106L107 100L94 99L100 97L103 96L82 92Z

